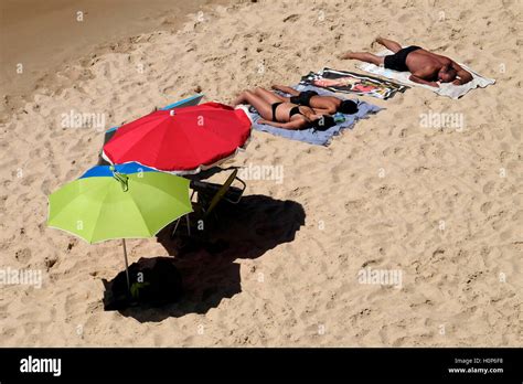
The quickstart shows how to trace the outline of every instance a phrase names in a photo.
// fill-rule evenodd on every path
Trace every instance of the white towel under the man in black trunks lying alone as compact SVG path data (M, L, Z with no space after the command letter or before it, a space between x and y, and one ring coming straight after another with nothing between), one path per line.
M384 50L384 51L381 51L381 52L377 53L378 56L385 56L385 55L389 55L389 54L393 54L393 52L388 51L388 50ZM461 96L467 94L470 89L473 89L473 88L477 88L477 87L484 88L488 85L491 85L491 84L495 83L494 79L481 76L480 74L478 74L474 71L472 71L471 68L469 68L467 65L461 64L461 63L458 63L458 64L461 65L463 67L463 70L470 72L470 74L473 77L472 81L467 83L467 84L463 84L463 85L453 85L453 84L450 84L450 83L444 83L444 84L439 85L439 88L431 87L430 85L425 85L425 84L418 84L418 83L410 82L408 79L408 77L410 76L410 72L397 72L397 71L387 70L387 68L384 68L384 67L381 67L381 66L377 66L377 65L374 65L374 64L371 64L371 63L359 63L356 66L359 68L361 68L365 72L372 73L374 75L387 77L387 78L391 78L393 81L396 81L396 82L405 84L405 85L430 89L430 90L437 93L438 95L447 96L447 97L450 97L450 98L460 98Z

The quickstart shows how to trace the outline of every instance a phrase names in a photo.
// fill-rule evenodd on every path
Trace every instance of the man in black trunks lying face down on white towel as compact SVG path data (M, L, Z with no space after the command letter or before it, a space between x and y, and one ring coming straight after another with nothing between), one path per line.
M395 41L377 38L376 43L393 51L393 55L376 56L367 52L348 52L340 58L359 60L374 65L383 65L385 68L412 73L409 79L418 84L439 87L437 82L455 85L467 84L472 75L465 71L458 63L447 56L428 52L419 46L410 45L402 49Z

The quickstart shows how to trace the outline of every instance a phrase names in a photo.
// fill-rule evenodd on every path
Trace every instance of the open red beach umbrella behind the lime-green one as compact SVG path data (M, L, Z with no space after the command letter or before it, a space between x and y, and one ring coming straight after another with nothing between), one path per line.
M196 173L243 148L252 121L241 108L218 103L157 110L118 128L104 146L111 163L130 161L173 173Z

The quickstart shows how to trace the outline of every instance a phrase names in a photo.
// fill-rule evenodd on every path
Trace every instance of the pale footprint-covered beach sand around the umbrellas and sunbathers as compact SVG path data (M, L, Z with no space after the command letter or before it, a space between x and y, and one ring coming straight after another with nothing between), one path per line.
M521 14L517 0L244 1L49 73L2 115L0 268L40 269L43 284L1 287L0 345L521 346ZM255 131L227 164L282 167L282 182L248 180L243 203L221 212L226 249L177 256L182 302L104 311L120 243L45 225L47 195L93 166L103 140L62 128L62 114L104 114L109 128L200 90L230 103L323 66L354 70L337 55L377 51L377 35L497 84L458 100L419 88L365 98L386 109L327 148ZM430 113L465 127L421 127ZM154 238L128 250L130 263L174 254ZM362 284L369 268L401 271L401 286Z

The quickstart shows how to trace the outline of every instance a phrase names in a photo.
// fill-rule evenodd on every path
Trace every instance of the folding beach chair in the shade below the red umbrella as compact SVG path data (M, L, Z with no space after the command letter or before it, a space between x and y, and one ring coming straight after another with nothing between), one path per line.
M247 185L237 174L238 170L235 169L222 185L199 180L191 181L190 188L193 190L191 201L196 194L196 201L193 202L194 211L192 213L196 221L203 220L209 222L211 218L217 220L215 209L222 201L226 201L231 204L239 203ZM233 186L235 181L237 181L241 186ZM182 217L175 222L171 233L171 238L174 237L181 220ZM189 214L185 215L185 221L188 235L191 237L191 222Z

